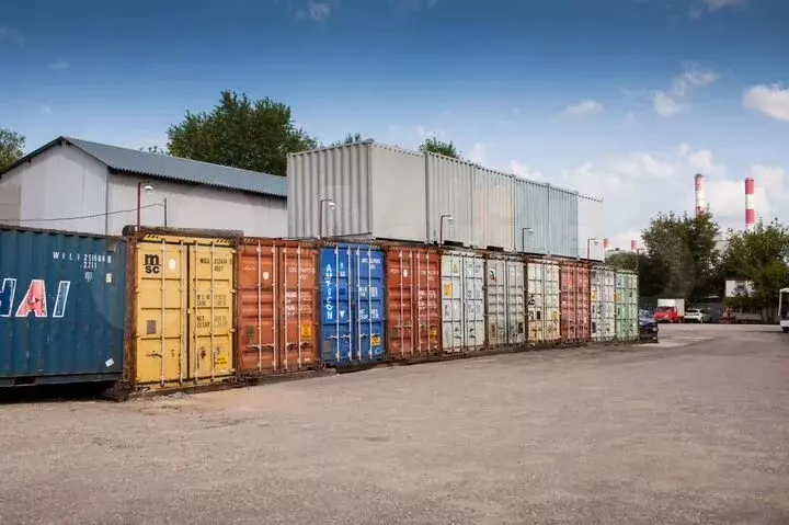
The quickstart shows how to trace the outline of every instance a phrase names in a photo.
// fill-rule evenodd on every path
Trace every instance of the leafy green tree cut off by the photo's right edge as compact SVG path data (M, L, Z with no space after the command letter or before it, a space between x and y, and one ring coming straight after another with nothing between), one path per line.
M753 231L729 232L721 273L753 282L750 306L766 309L773 318L778 290L789 286L789 230L777 220L759 221Z

